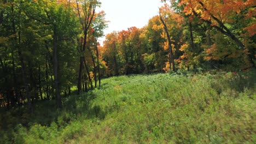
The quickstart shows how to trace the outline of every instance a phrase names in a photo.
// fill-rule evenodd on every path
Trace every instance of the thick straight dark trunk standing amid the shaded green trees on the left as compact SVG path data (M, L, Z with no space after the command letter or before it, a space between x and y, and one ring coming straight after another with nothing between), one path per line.
M61 95L59 89L59 82L58 82L58 59L57 59L57 28L54 25L54 39L53 39L53 67L54 67L54 86L55 86L55 95L56 95L56 102L57 107L62 107L61 102Z

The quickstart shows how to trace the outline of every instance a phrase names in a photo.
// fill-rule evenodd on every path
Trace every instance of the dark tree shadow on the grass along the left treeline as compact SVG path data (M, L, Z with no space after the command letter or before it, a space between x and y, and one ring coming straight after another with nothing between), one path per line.
M100 106L91 106L90 102L96 98L96 95L89 91L82 95L71 95L62 99L62 109L57 109L55 100L42 100L33 104L34 113L27 113L27 105L22 107L13 107L9 110L0 109L0 139L12 141L17 128L22 125L30 129L34 124L50 127L56 123L57 127L63 128L71 122L86 119L104 119L106 113ZM1 140L0 140L1 143Z

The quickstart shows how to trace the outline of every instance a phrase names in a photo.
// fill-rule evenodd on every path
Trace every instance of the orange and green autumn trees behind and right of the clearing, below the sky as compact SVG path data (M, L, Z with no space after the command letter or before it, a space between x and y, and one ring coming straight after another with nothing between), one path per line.
M251 0L167 2L147 26L106 35L106 74L254 67L255 11Z

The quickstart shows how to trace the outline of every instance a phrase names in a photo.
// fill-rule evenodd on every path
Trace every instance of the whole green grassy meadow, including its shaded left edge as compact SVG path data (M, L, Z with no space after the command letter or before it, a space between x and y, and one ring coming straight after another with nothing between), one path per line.
M0 143L255 143L255 72L110 77L62 110L1 112Z

